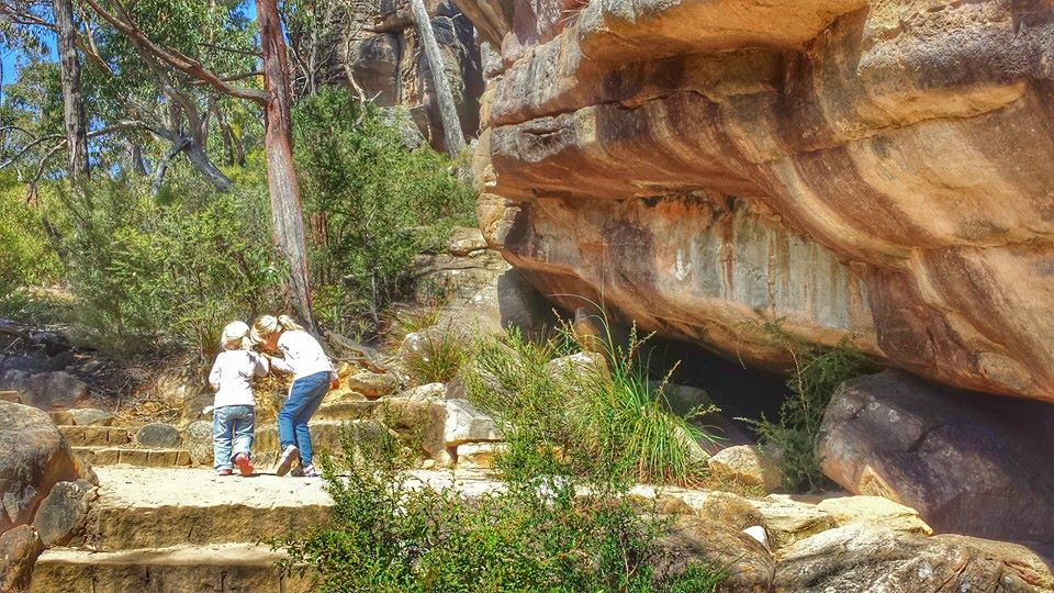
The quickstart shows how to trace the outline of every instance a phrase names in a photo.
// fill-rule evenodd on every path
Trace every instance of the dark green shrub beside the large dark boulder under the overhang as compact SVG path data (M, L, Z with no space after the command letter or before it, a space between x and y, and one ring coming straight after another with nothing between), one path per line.
M817 454L823 413L838 385L860 376L866 359L844 343L831 349L797 343L787 348L795 369L787 379L790 396L780 406L780 419L743 419L758 432L762 449L778 460L785 488L815 490L825 481Z

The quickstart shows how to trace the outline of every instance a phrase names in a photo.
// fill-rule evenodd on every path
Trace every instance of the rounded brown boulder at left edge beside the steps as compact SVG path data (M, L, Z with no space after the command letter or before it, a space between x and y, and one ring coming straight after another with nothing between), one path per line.
M0 533L32 523L52 486L76 481L79 468L45 412L0 401Z

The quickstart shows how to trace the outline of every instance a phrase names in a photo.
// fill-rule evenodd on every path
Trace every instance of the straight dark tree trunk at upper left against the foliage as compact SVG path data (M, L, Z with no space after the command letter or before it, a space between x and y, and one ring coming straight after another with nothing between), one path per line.
M69 153L69 176L74 181L88 178L88 124L80 93L80 63L77 60L77 30L72 0L53 0L59 72L63 82L63 119Z

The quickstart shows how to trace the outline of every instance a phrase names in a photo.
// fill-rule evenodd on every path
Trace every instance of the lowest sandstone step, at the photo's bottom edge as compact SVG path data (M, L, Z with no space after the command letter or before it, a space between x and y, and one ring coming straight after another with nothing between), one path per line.
M267 546L227 544L92 552L45 551L33 570L31 592L157 593L198 591L311 591L311 578L285 573L284 559Z

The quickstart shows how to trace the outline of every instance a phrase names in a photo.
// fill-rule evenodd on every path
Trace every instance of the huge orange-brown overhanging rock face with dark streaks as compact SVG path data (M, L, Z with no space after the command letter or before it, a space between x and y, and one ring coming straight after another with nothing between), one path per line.
M554 301L1054 401L1050 2L459 3L481 227Z

